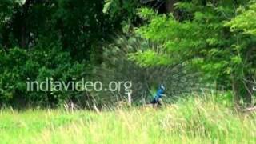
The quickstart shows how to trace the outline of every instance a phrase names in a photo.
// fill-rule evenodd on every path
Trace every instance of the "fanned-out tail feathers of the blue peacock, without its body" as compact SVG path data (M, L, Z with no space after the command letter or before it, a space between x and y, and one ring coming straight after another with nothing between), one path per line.
M200 91L203 86L200 73L183 63L175 66L138 66L128 57L143 50L158 50L158 44L146 39L118 36L114 44L104 48L102 66L94 70L94 79L107 86L110 82L132 82L133 104L145 104L152 100L158 86L165 86L165 102ZM126 90L93 92L94 102L100 106L114 106L126 102Z

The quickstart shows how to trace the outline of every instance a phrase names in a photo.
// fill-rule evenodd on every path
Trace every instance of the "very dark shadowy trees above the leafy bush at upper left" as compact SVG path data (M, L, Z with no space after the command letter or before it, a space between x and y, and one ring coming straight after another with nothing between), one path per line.
M100 0L4 0L1 45L28 49L59 41L74 59L100 62L102 44L120 27L120 22L102 13L103 4ZM99 58L92 58L95 55Z

